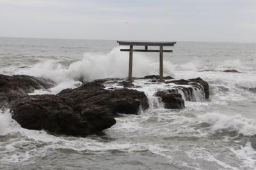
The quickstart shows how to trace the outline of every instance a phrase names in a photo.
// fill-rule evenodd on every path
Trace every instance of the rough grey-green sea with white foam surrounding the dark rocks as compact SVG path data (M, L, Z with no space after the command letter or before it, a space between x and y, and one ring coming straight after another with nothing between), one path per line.
M177 42L164 49L173 50L164 53L164 75L201 77L209 100L164 109L154 88L136 81L150 108L120 113L113 127L87 137L28 130L2 109L0 169L256 169L256 43ZM0 38L1 74L56 82L29 95L125 78L128 61L113 40ZM238 72L223 72L231 69ZM159 74L159 54L134 52L132 71L134 77Z

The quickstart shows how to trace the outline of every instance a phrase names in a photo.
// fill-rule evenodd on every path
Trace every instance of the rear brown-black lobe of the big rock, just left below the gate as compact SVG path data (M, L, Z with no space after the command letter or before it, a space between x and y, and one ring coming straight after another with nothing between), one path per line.
M138 114L140 105L142 109L148 108L145 93L134 89L107 90L97 81L83 84L77 89L65 89L58 94L66 98L70 105L83 112L90 105L108 108L109 114L116 113Z

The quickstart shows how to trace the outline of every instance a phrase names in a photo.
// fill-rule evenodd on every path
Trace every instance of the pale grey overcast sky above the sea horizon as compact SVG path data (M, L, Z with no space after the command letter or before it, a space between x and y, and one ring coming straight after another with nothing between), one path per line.
M0 36L256 42L256 0L0 0Z

